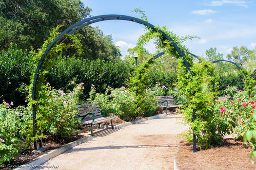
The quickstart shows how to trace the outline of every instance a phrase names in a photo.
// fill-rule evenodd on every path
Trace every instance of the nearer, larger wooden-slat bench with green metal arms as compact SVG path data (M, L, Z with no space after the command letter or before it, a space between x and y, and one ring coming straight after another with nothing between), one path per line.
M98 124L98 128L99 128L101 122L111 120L111 126L112 126L112 129L114 129L113 122L112 122L112 120L116 118L114 117L115 116L114 109L101 111L99 110L98 103L82 104L82 105L78 105L77 107L79 109L78 118L82 120L82 123L84 125L89 125L89 124L91 125L91 134L93 137L94 135L93 135L92 127L95 124ZM113 116L104 117L109 110L113 111Z

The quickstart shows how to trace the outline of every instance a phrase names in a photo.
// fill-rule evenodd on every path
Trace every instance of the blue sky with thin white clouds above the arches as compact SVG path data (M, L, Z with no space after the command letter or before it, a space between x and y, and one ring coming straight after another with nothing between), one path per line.
M195 35L185 45L196 55L211 47L226 56L235 46L256 47L256 0L81 0L92 8L91 15L120 14L140 17L131 10L141 8L149 23L167 26L179 36ZM92 24L111 34L123 56L136 45L144 26L129 21L110 20ZM155 52L153 42L146 47Z

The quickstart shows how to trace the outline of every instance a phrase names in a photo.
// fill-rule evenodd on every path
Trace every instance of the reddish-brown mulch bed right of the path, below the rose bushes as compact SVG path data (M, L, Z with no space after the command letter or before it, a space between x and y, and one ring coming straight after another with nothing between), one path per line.
M181 141L176 157L179 170L256 170L250 161L252 148L240 140L224 139L222 146L193 153L191 143ZM256 159L253 158L254 161Z

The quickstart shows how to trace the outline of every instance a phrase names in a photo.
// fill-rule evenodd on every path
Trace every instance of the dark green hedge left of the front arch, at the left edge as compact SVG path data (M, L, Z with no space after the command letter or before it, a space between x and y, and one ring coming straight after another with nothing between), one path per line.
M10 44L7 51L0 51L0 100L13 102L16 106L25 104L22 86L29 85L32 54Z

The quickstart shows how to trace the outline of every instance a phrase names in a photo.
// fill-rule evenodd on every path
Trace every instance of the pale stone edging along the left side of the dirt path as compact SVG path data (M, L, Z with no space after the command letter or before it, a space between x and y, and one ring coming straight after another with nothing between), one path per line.
M146 121L146 120L150 120L150 119L158 119L158 118L162 118L162 117L165 117L165 116L167 116L167 115L165 113L162 113L162 114L147 117L147 118L142 118L142 119L138 119L138 120L134 120L134 121L128 121L128 122L125 122L125 123L122 123L122 124L119 124L119 125L115 125L114 127L115 127L115 129L119 129L121 127L129 126L129 125L132 125L132 124L137 124L137 123L140 123L140 122L143 122L143 121ZM98 125L96 125L96 126L98 126ZM110 125L102 125L101 127L112 128ZM79 133L83 133L85 131L86 130L80 130ZM43 155L40 155L39 157L37 157L37 158L35 158L35 159L33 159L33 160L23 164L23 165L20 165L18 168L14 169L14 170L33 170L34 168L39 168L40 169L40 165L47 162L51 158L54 158L54 157L58 156L59 154L64 153L64 152L72 149L73 147L75 147L75 146L77 146L81 143L84 143L86 141L89 141L91 139L93 139L92 136L85 136L85 137L80 138L76 141L70 142L70 143L66 144L65 146L62 146L58 149L50 151L49 153L45 153ZM48 167L45 167L45 168L48 168Z

